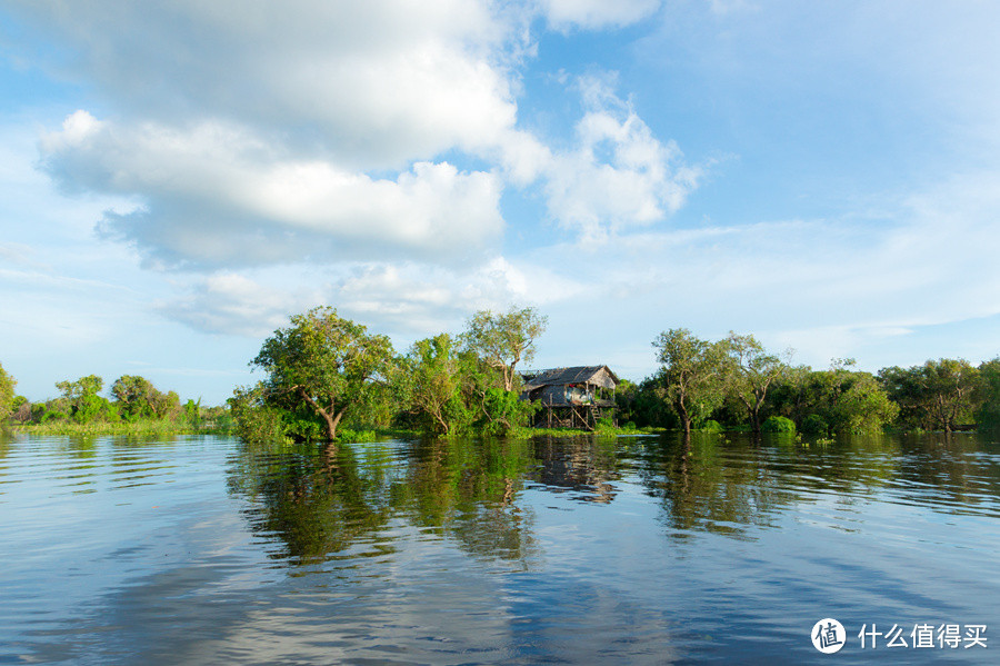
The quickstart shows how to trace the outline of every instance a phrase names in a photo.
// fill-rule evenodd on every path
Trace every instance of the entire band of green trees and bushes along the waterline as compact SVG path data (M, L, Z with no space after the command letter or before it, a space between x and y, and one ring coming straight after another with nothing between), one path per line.
M94 375L56 384L60 395L30 402L0 366L0 423L46 434L221 431L248 440L359 440L376 434L528 437L537 406L520 398L519 368L530 364L547 318L534 308L480 311L458 335L442 332L398 354L388 337L329 307L290 319L250 365L266 378L238 387L226 406L183 405L173 391L124 375L100 395ZM859 370L794 365L752 335L707 340L684 328L652 341L659 367L618 386L616 419L604 434L679 429L871 433L1000 428L1000 358ZM567 434L560 431L560 434Z

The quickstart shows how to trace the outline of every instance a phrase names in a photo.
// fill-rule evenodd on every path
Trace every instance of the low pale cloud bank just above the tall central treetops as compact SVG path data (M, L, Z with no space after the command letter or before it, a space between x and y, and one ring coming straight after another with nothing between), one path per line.
M197 277L183 297L157 308L206 332L261 337L287 324L289 315L327 304L409 340L458 331L479 309L506 309L511 302L544 307L582 289L571 277L503 257L457 268L413 261L341 265L322 275L312 271L308 288L296 287L303 284L298 272L272 268Z

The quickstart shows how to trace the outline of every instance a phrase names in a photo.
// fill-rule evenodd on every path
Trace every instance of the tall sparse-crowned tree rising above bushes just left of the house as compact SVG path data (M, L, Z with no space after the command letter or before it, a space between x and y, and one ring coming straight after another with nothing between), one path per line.
M500 371L503 389L512 391L517 384L514 368L534 358L534 340L546 330L548 317L534 308L511 307L504 315L480 310L469 319L462 338L491 368Z

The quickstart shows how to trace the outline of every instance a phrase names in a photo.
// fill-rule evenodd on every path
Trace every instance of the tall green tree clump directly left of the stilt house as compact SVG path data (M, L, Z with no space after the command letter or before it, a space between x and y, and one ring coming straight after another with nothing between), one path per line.
M332 441L344 431L400 428L429 435L502 435L536 407L519 398L546 317L533 308L477 312L398 355L389 338L329 307L291 318L250 365L267 378L229 400L244 439Z

